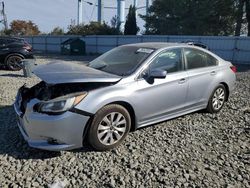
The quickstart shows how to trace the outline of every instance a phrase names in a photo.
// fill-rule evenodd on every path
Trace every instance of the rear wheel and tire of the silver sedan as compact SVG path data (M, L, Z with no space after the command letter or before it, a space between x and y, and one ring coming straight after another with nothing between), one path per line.
M224 85L220 84L217 86L209 98L206 110L210 113L219 112L225 104L227 95L228 93Z

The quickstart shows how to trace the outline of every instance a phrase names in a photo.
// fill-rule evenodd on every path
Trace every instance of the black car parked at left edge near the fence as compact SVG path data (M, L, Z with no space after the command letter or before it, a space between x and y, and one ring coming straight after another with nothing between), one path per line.
M0 64L10 70L22 69L22 60L33 58L32 46L22 38L0 37Z

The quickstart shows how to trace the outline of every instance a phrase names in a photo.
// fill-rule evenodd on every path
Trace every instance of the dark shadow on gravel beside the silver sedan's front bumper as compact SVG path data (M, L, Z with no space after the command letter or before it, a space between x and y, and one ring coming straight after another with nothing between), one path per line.
M15 159L47 159L61 155L29 147L17 127L13 106L0 106L0 117L0 155Z

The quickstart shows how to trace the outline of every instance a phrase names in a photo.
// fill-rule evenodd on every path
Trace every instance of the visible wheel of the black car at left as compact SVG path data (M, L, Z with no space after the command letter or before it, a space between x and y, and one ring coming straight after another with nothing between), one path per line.
M5 61L5 64L9 70L19 71L22 69L22 60L24 58L18 54L9 55Z

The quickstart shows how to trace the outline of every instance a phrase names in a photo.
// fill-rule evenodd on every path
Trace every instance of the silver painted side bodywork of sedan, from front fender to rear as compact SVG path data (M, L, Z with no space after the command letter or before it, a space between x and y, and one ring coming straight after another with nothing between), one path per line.
M187 46L183 45L183 47ZM136 73L134 73L129 77L123 78L117 84L107 88L101 88L92 91L91 95L88 95L85 98L85 100L83 100L77 106L77 108L95 114L101 107L107 104L119 101L126 102L134 108L136 116L136 126L138 128L205 108L207 106L209 96L211 95L213 89L219 83L223 82L227 83L229 86L229 90L233 89L235 82L235 75L229 68L231 63L226 62L220 57L214 55L213 53L198 47L189 47L189 48L196 48L199 50L203 50L206 53L209 53L210 55L219 60L219 66L167 74L166 79L155 79L156 85L149 84L144 79L140 79L139 77L140 73L148 67L150 62L159 52L172 48L173 47L168 47L157 50L141 66L141 68L139 68L138 71L136 71ZM217 74L210 75L210 72L212 72L214 69L218 71ZM199 73L200 71L202 71L203 74L205 74L205 76L202 75L204 78L206 77L204 81L199 78L195 79L195 77L200 75ZM224 75L225 72L228 75ZM180 84L179 82L183 78L185 78L186 81ZM211 80L209 80L209 78ZM190 84L190 79L192 79L192 81L194 81L195 83ZM165 91L167 90L170 93L167 94L163 93L162 87L160 87L160 85L163 84L164 85L167 84L168 86L170 86L173 91L171 89L168 90L164 88ZM177 91L175 91L175 89L177 89ZM144 92L140 93L140 91L142 90L144 90ZM204 94L204 97L199 99L199 101L196 94L197 91L201 91ZM151 94L151 92L153 92L154 95ZM183 101L184 100L183 98L185 98L185 96L186 98L188 98L187 96L188 92L191 92L192 94L194 94L194 96L196 96L195 98L193 98L193 101L187 101L187 100ZM199 96L201 95L199 94ZM177 99L177 101L180 100L182 102L178 103L171 101L169 99L171 100ZM162 103L162 101L165 101L165 103ZM179 106L176 107L174 106L174 104ZM164 109L164 106L169 107L169 109ZM175 112L177 108L179 110Z

